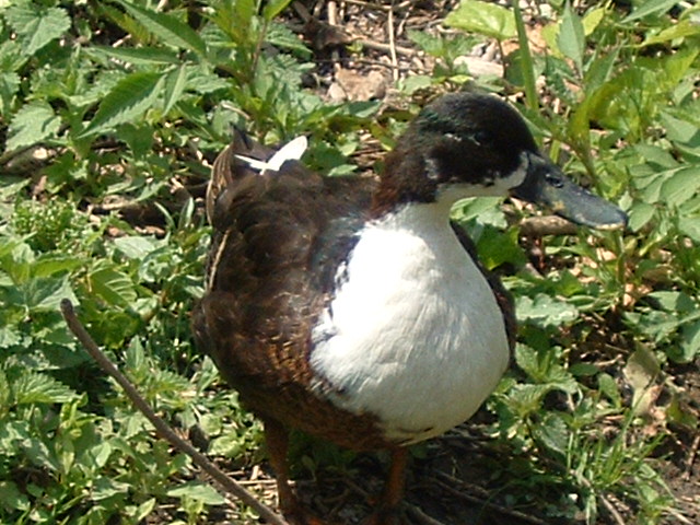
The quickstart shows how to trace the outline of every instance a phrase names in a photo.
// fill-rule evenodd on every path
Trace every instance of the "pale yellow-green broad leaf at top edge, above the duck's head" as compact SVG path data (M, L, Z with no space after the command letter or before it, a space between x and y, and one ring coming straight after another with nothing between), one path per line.
M445 25L498 40L513 38L517 34L515 19L510 9L477 0L463 0L459 7L445 18Z

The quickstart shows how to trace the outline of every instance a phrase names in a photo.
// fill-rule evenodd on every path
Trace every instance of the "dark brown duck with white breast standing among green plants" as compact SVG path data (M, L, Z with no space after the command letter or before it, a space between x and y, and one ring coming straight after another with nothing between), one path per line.
M511 295L451 221L459 199L514 197L578 224L627 215L564 176L497 95L427 104L378 177L324 176L305 139L273 150L241 130L215 159L212 226L196 343L264 425L279 506L324 523L290 485L298 429L390 455L370 525L398 523L410 445L467 421L505 372Z

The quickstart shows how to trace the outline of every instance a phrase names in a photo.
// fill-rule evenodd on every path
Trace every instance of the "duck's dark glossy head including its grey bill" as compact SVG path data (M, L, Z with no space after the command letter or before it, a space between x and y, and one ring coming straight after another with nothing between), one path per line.
M387 156L374 207L509 195L587 226L627 223L619 208L572 183L540 153L514 108L474 93L443 95L423 108Z

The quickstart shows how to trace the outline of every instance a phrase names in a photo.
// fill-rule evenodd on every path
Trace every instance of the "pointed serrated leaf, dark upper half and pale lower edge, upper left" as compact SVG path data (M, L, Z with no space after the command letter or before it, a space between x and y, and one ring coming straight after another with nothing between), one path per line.
M140 117L161 93L163 77L154 72L136 72L121 79L100 104L97 113L80 137L104 132Z

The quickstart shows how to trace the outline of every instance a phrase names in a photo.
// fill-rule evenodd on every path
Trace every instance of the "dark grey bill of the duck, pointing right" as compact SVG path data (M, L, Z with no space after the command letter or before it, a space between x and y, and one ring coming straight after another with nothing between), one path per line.
M617 206L572 183L551 161L529 155L525 180L511 195L551 209L558 215L584 226L614 230L627 224Z

